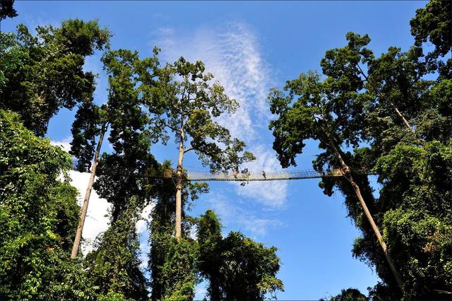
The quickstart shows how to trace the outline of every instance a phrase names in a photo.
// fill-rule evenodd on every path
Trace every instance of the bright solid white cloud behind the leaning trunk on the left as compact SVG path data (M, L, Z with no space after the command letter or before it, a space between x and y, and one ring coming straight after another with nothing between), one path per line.
M80 193L78 196L78 205L82 206L83 199L85 197L86 187L90 180L90 174L88 172L77 172L71 170L69 172L71 176L71 185L78 189ZM101 199L96 191L91 191L90 203L88 206L88 212L86 213L85 225L83 226L82 237L84 239L82 243L83 254L88 254L93 250L93 242L100 232L104 232L109 227L109 218L107 213L112 205L107 203L107 200Z

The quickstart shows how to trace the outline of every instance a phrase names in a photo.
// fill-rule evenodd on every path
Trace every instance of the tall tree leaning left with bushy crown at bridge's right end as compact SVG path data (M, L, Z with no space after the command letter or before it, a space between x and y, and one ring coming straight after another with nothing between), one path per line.
M283 167L295 163L295 156L302 153L304 140L314 138L320 141L319 148L324 151L316 160L316 169L322 170L323 165L340 168L345 179L350 182L350 188L355 193L364 214L377 237L388 261L396 281L402 288L403 283L393 265L391 254L383 241L381 232L371 216L368 205L364 201L362 189L359 186L359 176L355 175L350 163L346 163L347 154L340 148L344 143L357 147L359 143L359 127L357 122L362 119L357 101L357 92L360 82L342 83L328 77L320 81L317 73L301 74L294 81L287 81L284 95L278 90L270 94L270 110L278 119L270 122L275 142L273 148L278 153L278 159ZM342 90L342 91L341 91ZM338 93L338 92L343 93ZM355 179L356 178L356 179ZM367 179L365 180L367 182ZM369 191L369 183L364 182L364 194ZM367 190L367 191L366 191ZM374 202L369 194L367 201Z

